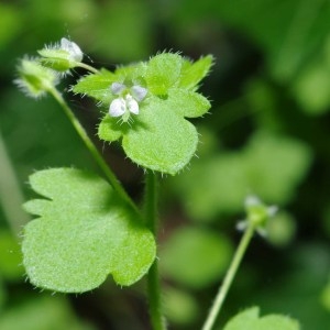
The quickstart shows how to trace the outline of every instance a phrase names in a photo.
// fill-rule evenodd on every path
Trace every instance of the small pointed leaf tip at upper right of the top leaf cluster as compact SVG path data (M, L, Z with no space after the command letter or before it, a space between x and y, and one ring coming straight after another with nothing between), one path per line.
M210 72L212 64L212 55L201 57L195 63L185 59L183 63L182 77L178 87L195 89L197 84Z

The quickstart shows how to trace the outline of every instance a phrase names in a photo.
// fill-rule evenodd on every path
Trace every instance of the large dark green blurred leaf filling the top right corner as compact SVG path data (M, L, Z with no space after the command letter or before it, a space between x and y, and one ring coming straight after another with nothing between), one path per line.
M176 11L183 25L206 15L252 40L266 55L271 73L288 81L318 56L329 35L330 4L324 0L186 0Z

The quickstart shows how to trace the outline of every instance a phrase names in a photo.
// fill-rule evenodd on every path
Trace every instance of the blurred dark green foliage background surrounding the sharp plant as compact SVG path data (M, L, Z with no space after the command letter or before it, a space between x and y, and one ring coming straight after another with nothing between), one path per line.
M238 274L218 329L239 310L297 318L330 328L330 1L329 0L21 0L0 2L0 329L150 329L141 280L111 278L82 295L33 288L19 242L29 221L35 169L98 170L51 98L26 99L12 84L18 58L70 37L87 62L113 69L158 51L216 65L201 86L210 116L194 120L198 157L162 179L160 257L170 329L199 329L256 194L279 206L266 242L256 238ZM65 97L91 136L100 117L87 99ZM97 142L139 201L143 176L121 151Z

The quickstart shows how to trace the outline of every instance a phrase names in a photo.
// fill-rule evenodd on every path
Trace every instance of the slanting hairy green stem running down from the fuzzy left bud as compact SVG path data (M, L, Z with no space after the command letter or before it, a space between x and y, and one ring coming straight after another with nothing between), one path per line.
M65 114L67 116L67 118L69 119L69 121L74 125L74 128L76 129L77 133L79 134L80 139L84 141L85 145L87 146L87 148L91 153L92 157L95 158L95 161L98 163L98 165L100 166L100 168L106 174L106 176L107 176L109 183L111 184L112 188L134 210L138 210L135 204L132 201L132 199L129 197L129 195L123 189L123 187L121 186L121 184L118 182L118 179L116 178L114 174L109 168L109 166L106 163L106 161L103 160L102 155L100 154L100 152L98 151L98 148L95 146L95 144L92 143L92 141L89 139L87 132L85 131L85 129L82 128L82 125L80 124L80 122L77 120L77 118L75 117L75 114L72 111L72 109L67 106L67 103L65 102L65 100L63 99L63 97L58 92L58 90L55 89L55 88L53 88L53 89L50 90L50 94L55 98L55 100L59 103L59 106L64 110Z

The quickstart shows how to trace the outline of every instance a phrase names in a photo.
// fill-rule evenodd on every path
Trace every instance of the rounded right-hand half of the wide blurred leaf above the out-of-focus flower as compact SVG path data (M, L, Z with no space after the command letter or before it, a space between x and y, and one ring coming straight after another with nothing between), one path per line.
M285 204L294 196L310 162L309 147L298 140L256 133L243 153L249 186L263 200Z

